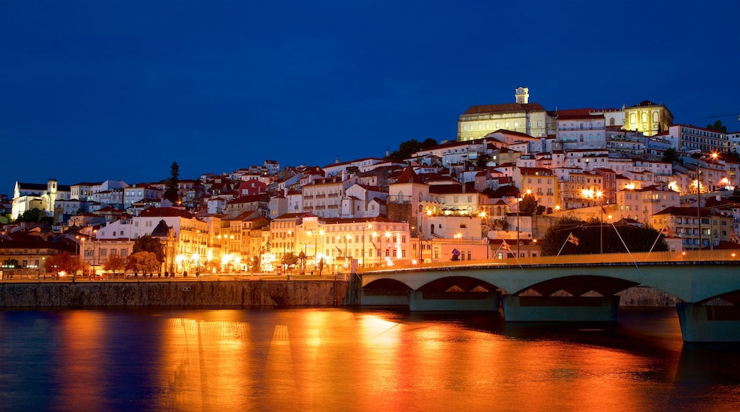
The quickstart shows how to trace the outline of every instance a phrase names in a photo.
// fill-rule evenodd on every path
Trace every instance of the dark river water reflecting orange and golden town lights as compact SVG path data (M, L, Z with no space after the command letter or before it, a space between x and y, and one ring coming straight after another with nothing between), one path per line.
M365 309L4 310L2 411L740 411L740 346Z

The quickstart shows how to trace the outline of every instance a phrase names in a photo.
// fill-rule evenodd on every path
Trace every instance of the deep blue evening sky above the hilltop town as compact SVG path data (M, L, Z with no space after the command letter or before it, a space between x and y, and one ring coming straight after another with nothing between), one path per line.
M740 113L740 1L506 3L0 0L0 193L382 157L517 86Z

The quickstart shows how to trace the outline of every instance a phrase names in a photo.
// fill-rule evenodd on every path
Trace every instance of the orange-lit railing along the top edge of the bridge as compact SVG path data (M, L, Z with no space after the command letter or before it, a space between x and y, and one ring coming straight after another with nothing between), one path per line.
M648 262L728 261L740 264L740 253L734 250L702 250L701 252L652 252L652 253L596 253L592 255L538 256L536 258L503 258L477 261L440 261L423 264L395 265L358 269L357 272L382 272L385 270L445 269L477 266L531 266L549 264L625 264Z

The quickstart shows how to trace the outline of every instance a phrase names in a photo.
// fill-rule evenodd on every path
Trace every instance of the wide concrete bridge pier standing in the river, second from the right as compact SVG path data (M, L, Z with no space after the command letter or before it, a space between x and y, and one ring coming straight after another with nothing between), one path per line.
M503 295L507 322L616 322L619 296Z

